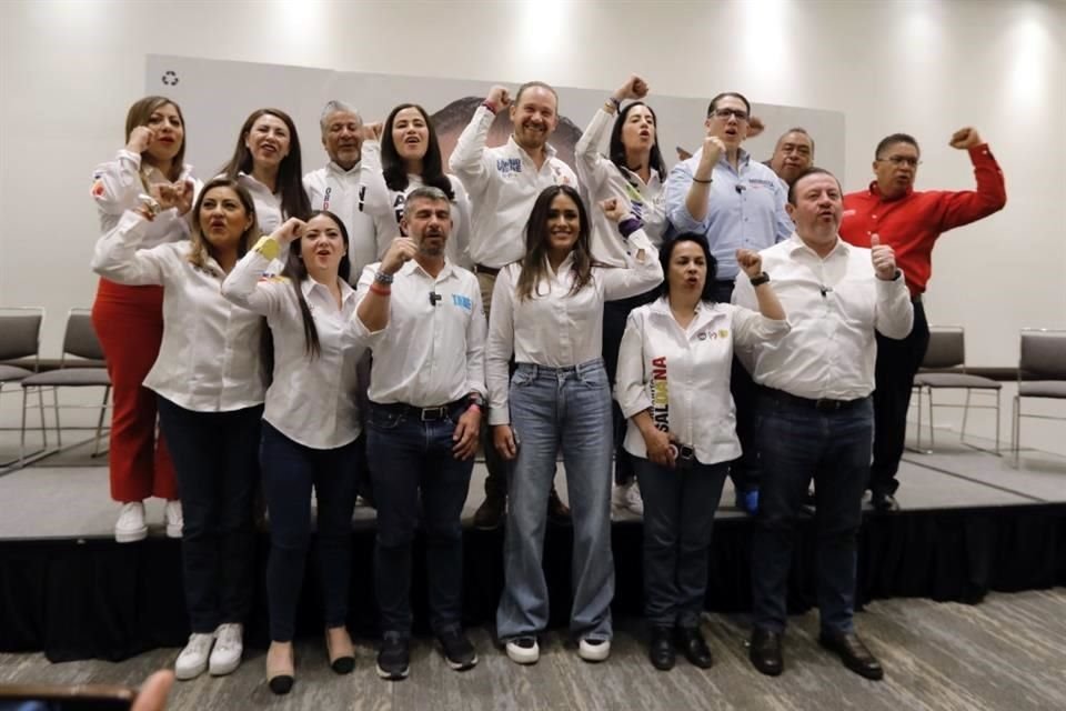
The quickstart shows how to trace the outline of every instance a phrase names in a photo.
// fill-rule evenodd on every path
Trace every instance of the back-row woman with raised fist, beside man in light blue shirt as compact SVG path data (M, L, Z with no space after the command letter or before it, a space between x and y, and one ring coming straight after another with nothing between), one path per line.
M657 120L650 106L641 101L647 96L647 83L631 76L596 110L589 128L574 149L577 178L587 191L589 201L597 203L614 196L630 201L630 211L644 221L644 232L658 247L666 231L666 207L663 181L666 163L658 149ZM622 102L630 103L622 108ZM614 118L615 114L617 118ZM600 153L610 127L607 156ZM614 224L602 212L592 218L592 256L605 264L622 266L628 246L620 239ZM657 291L631 299L607 301L603 307L603 361L607 377L615 381L619 368L619 343L625 331L630 311L657 298ZM614 423L614 490L616 505L641 514L644 511L636 474L628 454L622 448L625 418L616 405L611 408Z

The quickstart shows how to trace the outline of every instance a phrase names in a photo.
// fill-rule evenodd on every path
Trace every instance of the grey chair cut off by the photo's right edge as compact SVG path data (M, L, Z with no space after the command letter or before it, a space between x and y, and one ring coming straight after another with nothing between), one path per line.
M1018 392L1012 412L1014 461L1018 462L1022 418L1066 420L1048 414L1022 412L1022 398L1066 400L1066 330L1023 329L1018 357Z

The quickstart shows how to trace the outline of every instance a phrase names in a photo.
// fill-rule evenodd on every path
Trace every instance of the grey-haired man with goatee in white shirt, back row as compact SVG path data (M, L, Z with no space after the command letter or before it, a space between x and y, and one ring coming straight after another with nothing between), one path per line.
M329 210L344 223L351 273L358 279L366 264L378 261L374 221L361 209L360 166L366 129L355 109L335 99L326 102L319 123L330 162L305 174L303 189L312 210Z

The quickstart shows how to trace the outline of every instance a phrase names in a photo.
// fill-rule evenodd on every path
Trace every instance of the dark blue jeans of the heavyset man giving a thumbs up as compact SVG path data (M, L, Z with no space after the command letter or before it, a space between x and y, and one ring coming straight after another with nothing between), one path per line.
M758 400L763 484L752 534L754 624L782 632L795 519L815 481L817 597L822 629L851 632L855 605L855 539L869 478L873 403L815 410L777 390Z

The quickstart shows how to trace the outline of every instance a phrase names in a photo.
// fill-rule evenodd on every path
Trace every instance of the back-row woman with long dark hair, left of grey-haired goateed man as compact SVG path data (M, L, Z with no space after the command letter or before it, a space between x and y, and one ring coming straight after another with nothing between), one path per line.
M311 212L303 189L300 136L281 109L258 109L244 120L222 177L238 181L252 196L259 229L266 234L286 219L302 220Z

